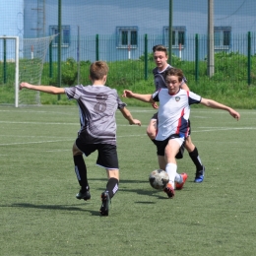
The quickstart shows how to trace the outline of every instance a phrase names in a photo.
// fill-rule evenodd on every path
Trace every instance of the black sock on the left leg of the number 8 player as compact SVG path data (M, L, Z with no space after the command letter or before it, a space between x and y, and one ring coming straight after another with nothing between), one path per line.
M75 172L77 174L78 182L82 191L89 190L89 184L87 179L87 166L83 155L74 156Z

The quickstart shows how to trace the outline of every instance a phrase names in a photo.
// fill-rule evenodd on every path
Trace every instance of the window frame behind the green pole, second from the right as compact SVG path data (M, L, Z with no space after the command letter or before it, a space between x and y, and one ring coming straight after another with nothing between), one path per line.
M173 26L172 27L172 49L179 49L179 33L183 33L183 44L181 43L181 48L186 47L186 27L185 26ZM174 33L174 36L173 36ZM163 27L163 45L168 47L168 36L169 36L169 27ZM174 40L174 43L173 43Z

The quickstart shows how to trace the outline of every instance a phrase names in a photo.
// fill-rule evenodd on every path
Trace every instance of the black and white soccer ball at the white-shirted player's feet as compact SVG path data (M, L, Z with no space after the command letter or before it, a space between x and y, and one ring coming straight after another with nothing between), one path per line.
M169 182L169 176L165 170L156 169L150 174L149 181L153 188L163 189Z

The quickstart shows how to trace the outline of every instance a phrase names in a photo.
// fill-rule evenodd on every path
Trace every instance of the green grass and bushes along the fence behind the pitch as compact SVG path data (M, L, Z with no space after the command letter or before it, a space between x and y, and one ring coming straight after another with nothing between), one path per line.
M115 88L121 96L124 89L130 89L142 94L151 94L155 90L152 70L155 68L153 54L148 55L148 68L145 68L142 55L138 60L125 60L108 62L109 74L106 85ZM183 61L176 56L172 56L172 66L183 70L185 77L188 80L188 86L191 91L205 97L214 98L218 101L225 102L232 107L240 108L256 108L255 86L256 86L256 55L251 56L251 85L247 85L248 75L248 59L246 56L238 52L218 52L215 54L215 74L212 78L207 75L207 61L198 63L199 79L195 77L195 62ZM26 76L26 62L21 60L21 67ZM27 65L31 64L31 60ZM80 66L73 58L68 58L61 63L62 68L62 87L70 87L79 84L90 85L89 67L90 61L81 61ZM11 91L6 90L14 85L14 67L15 63L7 63L7 84L2 90L0 102L5 102L6 99L13 103L13 95L8 96ZM3 70L3 63L0 63L0 70ZM42 71L41 84L58 86L56 62L52 63L52 78L49 78L49 63L45 63ZM79 78L78 78L79 71ZM0 72L0 79L3 81L3 72ZM28 77L28 82L32 81L32 73ZM0 84L2 82L0 81ZM13 89L14 90L14 89ZM13 92L13 91L12 91ZM126 99L124 99L126 101ZM61 100L57 96L49 96L41 94L41 102L43 104L70 104L70 100L65 96L61 96ZM129 100L129 105L145 105L138 100Z

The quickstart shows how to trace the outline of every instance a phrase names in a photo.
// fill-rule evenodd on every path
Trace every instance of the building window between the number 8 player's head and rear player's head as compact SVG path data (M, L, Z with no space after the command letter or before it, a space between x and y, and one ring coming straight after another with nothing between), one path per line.
M136 48L138 45L138 27L116 27L117 47Z

